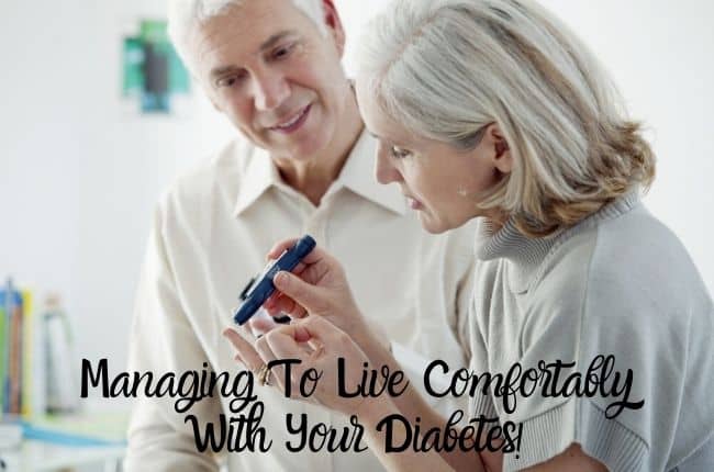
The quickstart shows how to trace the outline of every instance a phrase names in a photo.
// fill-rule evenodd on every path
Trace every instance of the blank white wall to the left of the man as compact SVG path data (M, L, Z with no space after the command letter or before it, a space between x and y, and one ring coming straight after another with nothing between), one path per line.
M164 1L3 7L0 277L59 292L79 355L120 369L154 204L230 127L201 100L179 120L126 113L121 38Z

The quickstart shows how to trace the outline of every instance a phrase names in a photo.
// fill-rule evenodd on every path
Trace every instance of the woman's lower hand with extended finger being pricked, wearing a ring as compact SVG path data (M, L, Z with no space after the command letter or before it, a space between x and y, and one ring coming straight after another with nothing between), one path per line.
M271 369L269 383L287 393L287 382L290 396L327 408L357 415L358 417L370 407L362 396L353 398L337 394L337 384L352 392L361 382L362 368L369 363L367 356L359 346L342 329L322 316L308 316L297 319L290 325L279 326L260 337L253 345L234 329L223 331L237 351L236 360L243 362L253 372L275 360L297 359L298 364L291 364L289 372L285 366ZM344 358L342 380L338 379L337 359ZM320 379L314 383L314 392L305 396L300 391L301 379L309 369L315 369ZM313 383L308 382L309 387ZM305 392L310 393L310 392ZM373 398L372 398L373 400Z

